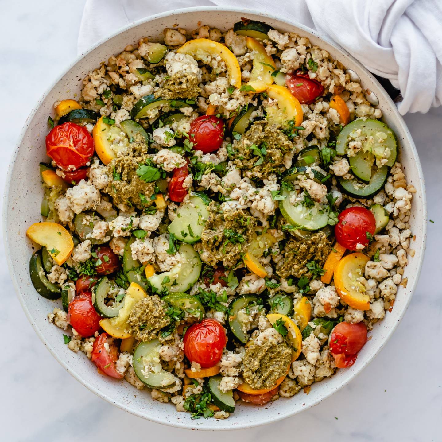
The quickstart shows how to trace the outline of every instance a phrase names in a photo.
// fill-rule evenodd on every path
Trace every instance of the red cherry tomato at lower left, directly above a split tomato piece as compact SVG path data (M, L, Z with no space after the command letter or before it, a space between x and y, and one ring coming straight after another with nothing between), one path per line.
M92 305L91 292L82 292L77 295L68 306L68 320L76 332L88 338L100 329L102 317L95 311Z

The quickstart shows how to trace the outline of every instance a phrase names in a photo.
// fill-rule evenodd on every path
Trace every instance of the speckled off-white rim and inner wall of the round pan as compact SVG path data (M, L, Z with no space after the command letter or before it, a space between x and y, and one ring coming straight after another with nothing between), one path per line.
M207 24L210 27L225 30L232 27L233 23L240 21L240 17L263 20L278 30L292 31L309 37L314 44L319 45L333 57L342 61L347 69L358 72L363 87L370 88L377 95L385 122L397 134L401 148L400 161L404 165L408 182L412 183L417 190L412 201L410 219L412 232L416 236L412 245L416 254L405 268L404 277L408 278L407 287L400 286L392 312L387 313L385 320L376 324L373 332L370 333L372 339L366 343L354 366L346 370L338 370L338 373L331 378L313 384L309 395L300 392L291 399L277 400L268 408L239 404L236 412L229 419L220 421L198 419L195 421L188 413L176 412L175 406L172 404L160 404L152 400L148 390L138 392L127 382L114 381L108 377L100 376L95 366L88 361L84 354L76 354L63 344L61 330L47 320L47 313L60 301L54 304L39 296L30 281L28 267L32 244L25 236L25 232L30 224L41 220L39 208L42 200L42 188L38 163L47 160L45 135L48 132L48 115L53 113L53 103L60 99L72 98L75 93L79 94L81 80L89 71L99 66L100 62L107 60L110 55L121 52L127 44L137 42L141 36L161 39L164 28L175 25L192 30L201 24ZM11 161L6 188L3 228L9 271L23 309L42 342L73 377L98 396L134 415L175 427L197 428L199 430L254 427L295 415L340 389L374 358L392 335L410 302L425 249L426 202L422 169L411 135L392 100L373 76L343 50L332 46L310 29L256 11L225 10L214 7L168 12L133 23L112 37L99 42L88 53L76 60L36 104L23 128L23 137ZM354 402L356 404L358 398L355 397Z

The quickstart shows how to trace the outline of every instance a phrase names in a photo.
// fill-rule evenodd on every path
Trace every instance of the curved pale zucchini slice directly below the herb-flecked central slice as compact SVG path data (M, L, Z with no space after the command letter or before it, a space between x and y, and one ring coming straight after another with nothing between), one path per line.
M170 271L154 274L148 281L155 293L163 289L170 292L186 292L198 281L201 273L201 259L191 244L182 244L179 253L184 260L180 261Z

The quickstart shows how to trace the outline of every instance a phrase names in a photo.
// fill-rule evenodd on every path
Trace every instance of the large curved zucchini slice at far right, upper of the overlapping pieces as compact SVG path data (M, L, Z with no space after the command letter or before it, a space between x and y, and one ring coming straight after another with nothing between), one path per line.
M350 141L360 141L364 152L371 152L382 159L388 158L385 166L391 167L397 156L397 140L394 132L379 120L354 120L341 130L336 139L336 152L344 155ZM389 155L387 156L389 151Z

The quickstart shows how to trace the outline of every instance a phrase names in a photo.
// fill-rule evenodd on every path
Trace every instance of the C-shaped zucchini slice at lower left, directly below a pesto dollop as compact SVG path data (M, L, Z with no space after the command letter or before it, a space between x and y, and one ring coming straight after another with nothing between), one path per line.
M166 389L176 384L175 376L163 370L160 362L160 348L158 339L141 342L133 352L133 371L141 382L150 388Z

